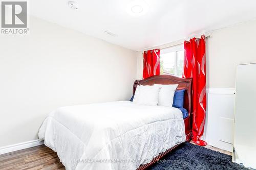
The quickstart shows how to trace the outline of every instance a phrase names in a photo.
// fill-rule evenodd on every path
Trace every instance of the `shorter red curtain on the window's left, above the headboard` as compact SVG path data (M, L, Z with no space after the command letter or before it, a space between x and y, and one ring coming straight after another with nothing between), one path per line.
M160 75L160 49L143 53L143 79Z

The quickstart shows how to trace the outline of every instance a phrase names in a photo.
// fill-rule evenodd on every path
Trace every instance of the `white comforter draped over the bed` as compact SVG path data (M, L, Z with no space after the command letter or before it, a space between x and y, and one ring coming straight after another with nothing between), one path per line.
M66 169L129 170L185 141L177 108L121 101L61 107L39 130Z

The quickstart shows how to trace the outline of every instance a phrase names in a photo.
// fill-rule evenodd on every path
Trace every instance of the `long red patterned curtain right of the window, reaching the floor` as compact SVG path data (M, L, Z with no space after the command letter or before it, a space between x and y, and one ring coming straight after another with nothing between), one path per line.
M184 78L193 78L193 126L192 140L198 145L207 143L199 138L204 133L206 110L206 69L205 69L205 36L184 42Z

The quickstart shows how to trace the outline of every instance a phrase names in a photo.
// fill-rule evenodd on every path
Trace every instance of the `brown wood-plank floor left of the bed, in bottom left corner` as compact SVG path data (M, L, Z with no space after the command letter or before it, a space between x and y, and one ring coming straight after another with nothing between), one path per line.
M59 162L59 158L53 150L45 145L40 145L38 147L0 155L0 169L65 170L65 167Z

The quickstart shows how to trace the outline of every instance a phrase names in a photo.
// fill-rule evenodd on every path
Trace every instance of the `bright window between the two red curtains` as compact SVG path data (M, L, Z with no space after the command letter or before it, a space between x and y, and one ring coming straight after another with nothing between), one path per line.
M183 46L165 48L160 54L160 75L182 77L184 49Z

